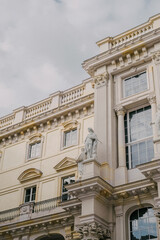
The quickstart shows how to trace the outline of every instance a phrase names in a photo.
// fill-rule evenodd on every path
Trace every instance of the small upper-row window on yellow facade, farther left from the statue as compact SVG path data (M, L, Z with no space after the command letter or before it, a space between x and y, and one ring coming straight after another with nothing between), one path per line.
M41 141L30 143L28 148L28 159L40 157Z

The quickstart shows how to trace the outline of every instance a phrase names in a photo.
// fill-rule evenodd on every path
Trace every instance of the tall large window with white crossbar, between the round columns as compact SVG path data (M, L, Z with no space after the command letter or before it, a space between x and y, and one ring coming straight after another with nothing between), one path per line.
M151 161L154 156L151 107L128 112L124 117L127 168Z

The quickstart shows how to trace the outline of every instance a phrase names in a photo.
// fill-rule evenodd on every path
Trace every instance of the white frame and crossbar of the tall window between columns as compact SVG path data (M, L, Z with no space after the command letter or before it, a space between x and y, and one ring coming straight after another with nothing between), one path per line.
M126 114L127 114L128 143L125 143L125 147L128 147L128 165L129 165L128 170L131 170L131 169L136 168L136 167L132 168L131 146L134 145L134 144L136 144L136 143L140 143L140 142L144 142L144 141L146 141L146 140L151 140L151 139L153 139L153 134L152 134L152 136L145 137L145 138L142 138L142 139L139 139L139 140L130 142L129 113L130 113L130 112L133 112L133 111L136 111L136 110L138 110L138 109L147 107L147 106L150 106L150 105L148 105L148 104L147 104L147 105L146 105L146 104L145 104L145 105L141 105L141 106L139 106L138 108L136 107L136 108L133 108L133 109L127 111L127 113L126 113ZM152 111L152 108L151 108L151 111ZM151 113L151 114L152 114L152 113ZM153 131L153 130L152 130L152 131ZM152 133L153 133L153 132L152 132ZM125 133L124 133L124 134L125 134ZM126 160L127 160L127 159L126 159ZM127 161L126 161L126 163L127 163Z

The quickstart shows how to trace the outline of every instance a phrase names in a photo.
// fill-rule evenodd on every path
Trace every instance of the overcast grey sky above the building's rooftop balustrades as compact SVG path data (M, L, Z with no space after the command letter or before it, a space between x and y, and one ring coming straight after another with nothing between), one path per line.
M97 41L159 12L160 0L0 0L0 117L80 84Z

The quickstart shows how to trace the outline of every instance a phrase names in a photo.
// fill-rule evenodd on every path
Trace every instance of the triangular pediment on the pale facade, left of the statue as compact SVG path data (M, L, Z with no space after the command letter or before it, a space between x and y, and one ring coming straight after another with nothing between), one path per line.
M68 168L72 168L77 166L77 162L73 158L65 157L62 161L60 161L54 168L56 171L64 171Z

